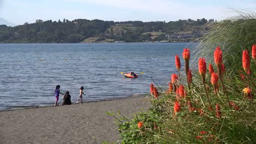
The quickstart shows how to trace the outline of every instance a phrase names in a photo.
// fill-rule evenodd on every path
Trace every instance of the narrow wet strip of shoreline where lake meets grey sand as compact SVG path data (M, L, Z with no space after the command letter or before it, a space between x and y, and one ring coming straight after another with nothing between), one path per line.
M92 101L84 101L83 104L87 104L87 103L94 103L94 102L100 102L100 101L111 101L111 100L118 100L118 99L129 99L129 98L133 98L133 97L147 97L147 95L149 95L149 93L143 93L143 94L132 94L129 95L127 97L122 97L122 98L109 98L109 99L102 99L102 100L92 100ZM78 105L75 104L75 101L72 102L72 105ZM59 104L59 106L62 106L61 103ZM17 108L15 108L17 107ZM41 109L43 107L55 107L54 105L19 105L19 106L10 106L10 109L0 109L0 113L4 112L4 111L16 111L16 110L24 110L24 109Z

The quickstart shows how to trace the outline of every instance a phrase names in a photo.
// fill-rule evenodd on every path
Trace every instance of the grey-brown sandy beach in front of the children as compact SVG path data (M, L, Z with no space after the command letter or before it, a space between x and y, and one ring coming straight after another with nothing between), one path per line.
M84 104L0 112L0 143L116 143L115 119L107 111L132 116L147 110L146 95Z

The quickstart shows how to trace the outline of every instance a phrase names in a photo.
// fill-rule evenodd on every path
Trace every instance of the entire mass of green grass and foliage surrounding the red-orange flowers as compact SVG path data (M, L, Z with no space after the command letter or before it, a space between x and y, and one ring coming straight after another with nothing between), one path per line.
M240 14L235 19L213 23L194 51L194 61L205 57L208 65L214 64L214 50L221 47L226 70L224 82L219 81L219 92L214 93L210 74L206 74L205 88L199 72L193 71L190 88L185 76L177 82L186 87L185 98L176 92L162 93L159 99L150 100L152 106L147 112L139 112L132 119L109 113L118 119L122 143L256 143L256 109L243 93L250 82L255 97L255 63L251 62L249 79L240 75L246 75L242 72L242 51L251 52L256 43L256 20L254 14ZM177 101L180 109L174 106Z

